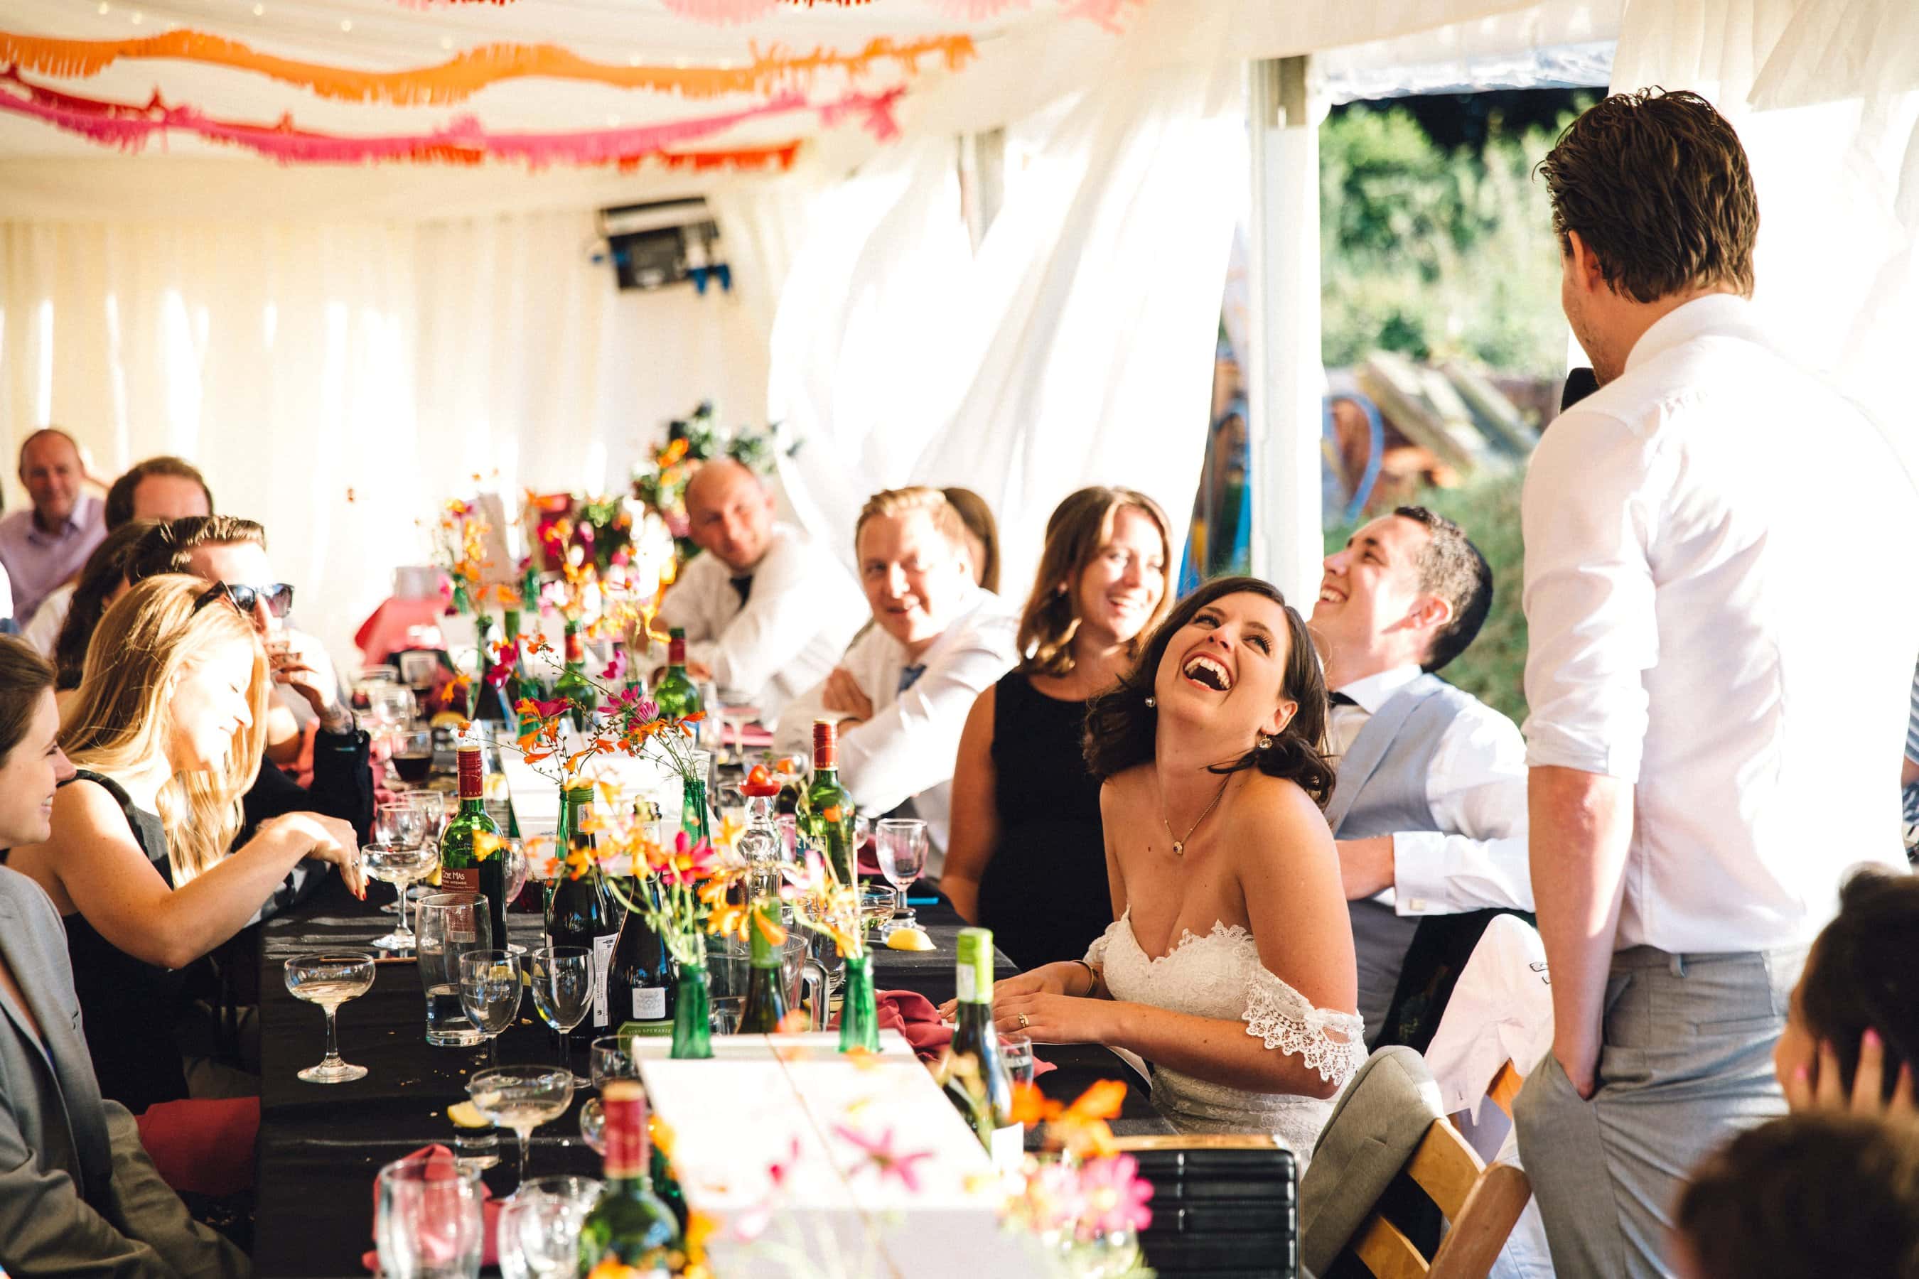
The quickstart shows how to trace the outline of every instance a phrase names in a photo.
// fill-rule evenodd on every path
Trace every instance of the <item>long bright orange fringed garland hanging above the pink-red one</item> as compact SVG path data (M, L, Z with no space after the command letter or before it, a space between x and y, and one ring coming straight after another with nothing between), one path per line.
M169 58L255 71L307 88L320 98L397 105L464 102L487 84L524 77L647 88L681 98L758 96L783 88L808 88L823 71L844 73L850 79L871 75L881 67L917 75L929 58L940 59L948 71L958 71L973 56L973 40L965 35L904 42L881 36L869 40L858 54L825 48L794 54L777 44L764 50L752 46L752 58L739 67L614 65L580 58L557 44L484 44L434 67L363 71L276 58L240 40L201 31L167 31L138 40L56 40L0 31L0 65L12 63L40 75L90 77L121 59Z

